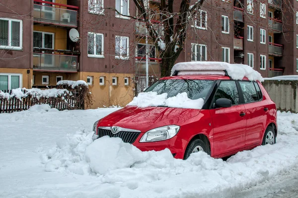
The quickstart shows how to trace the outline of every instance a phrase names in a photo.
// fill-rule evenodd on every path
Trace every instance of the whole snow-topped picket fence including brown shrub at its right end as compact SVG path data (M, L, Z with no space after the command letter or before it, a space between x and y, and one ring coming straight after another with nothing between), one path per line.
M92 104L92 95L85 85L58 85L58 88L0 91L0 113L27 110L35 104L49 104L58 110L84 109Z

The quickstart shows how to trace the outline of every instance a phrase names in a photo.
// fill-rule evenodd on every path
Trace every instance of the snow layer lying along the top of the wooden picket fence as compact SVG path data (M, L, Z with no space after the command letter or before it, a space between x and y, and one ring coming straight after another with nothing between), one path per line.
M23 93L23 91L26 91L25 94ZM11 90L11 94L4 93L4 92L0 91L0 98L9 99L9 98L15 97L17 99L22 99L22 98L26 98L28 96L33 96L36 99L40 99L42 97L45 97L45 98L55 97L55 98L57 98L58 96L66 96L67 94L72 95L72 93L69 92L66 89L63 89L63 90L61 90L61 89L40 90L40 89L36 89L36 88L32 88L32 89L17 88L17 89Z

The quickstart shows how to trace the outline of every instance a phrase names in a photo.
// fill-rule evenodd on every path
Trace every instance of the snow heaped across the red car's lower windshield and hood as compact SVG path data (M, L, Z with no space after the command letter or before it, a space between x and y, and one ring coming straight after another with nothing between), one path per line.
M149 106L168 106L177 108L201 109L204 105L204 99L189 99L187 93L179 93L177 96L167 98L167 93L157 95L157 92L140 93L134 97L128 106L138 106L145 108Z

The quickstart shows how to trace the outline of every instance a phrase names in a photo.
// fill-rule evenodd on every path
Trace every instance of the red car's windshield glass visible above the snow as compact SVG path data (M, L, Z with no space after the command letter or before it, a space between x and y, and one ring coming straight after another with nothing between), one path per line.
M212 80L159 80L151 85L145 92L167 93L167 98L186 92L189 99L204 99L215 81Z

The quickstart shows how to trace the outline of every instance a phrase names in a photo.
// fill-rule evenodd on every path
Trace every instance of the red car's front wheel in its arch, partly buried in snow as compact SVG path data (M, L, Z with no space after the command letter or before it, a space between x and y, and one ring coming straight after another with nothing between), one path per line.
M190 154L198 152L198 151L204 151L208 155L210 155L210 146L209 142L201 140L201 139L194 139L192 140L188 146L186 147L185 154L184 154L184 160L186 160Z

